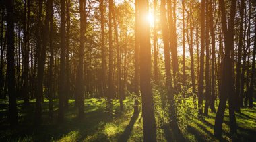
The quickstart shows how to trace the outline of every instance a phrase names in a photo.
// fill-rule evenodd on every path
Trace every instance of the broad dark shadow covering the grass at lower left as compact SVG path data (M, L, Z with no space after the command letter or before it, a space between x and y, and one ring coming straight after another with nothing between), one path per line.
M35 126L34 121L34 104L30 103L30 108L22 110L22 104L18 104L20 114L20 125L14 128L9 127L5 121L0 125L0 141L55 141L60 140L66 135L75 132L77 136L75 139L83 139L88 135L97 133L99 138L97 141L108 139L104 133L98 133L98 130L113 119L110 115L104 111L104 106L88 106L85 107L86 112L83 119L77 118L77 109L72 106L65 113L65 122L57 123L57 104L53 102L53 121L49 121L48 103L42 103L42 119L44 120L42 125ZM0 112L2 115L3 112ZM116 114L115 117L120 117L120 114ZM27 138L29 137L29 139ZM76 140L73 141L76 141Z

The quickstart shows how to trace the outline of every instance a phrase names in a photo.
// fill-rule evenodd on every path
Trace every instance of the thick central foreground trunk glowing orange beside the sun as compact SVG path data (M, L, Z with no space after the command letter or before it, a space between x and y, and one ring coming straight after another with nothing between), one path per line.
M143 140L156 141L156 120L154 116L154 102L151 78L151 49L150 25L145 17L148 15L148 5L145 0L138 1L139 8L139 66L140 86L142 96Z

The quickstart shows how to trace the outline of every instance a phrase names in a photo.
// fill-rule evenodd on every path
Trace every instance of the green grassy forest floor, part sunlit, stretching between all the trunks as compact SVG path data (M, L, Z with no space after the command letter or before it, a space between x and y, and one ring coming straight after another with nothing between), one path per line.
M208 117L198 119L197 111L186 101L186 108L177 110L179 129L168 127L168 116L158 104L160 98L155 98L156 127L158 141L255 141L256 139L256 100L254 109L243 108L236 113L238 134L232 139L228 127L228 109L226 109L223 128L223 138L216 139L214 119L216 113L209 111ZM69 100L69 109L65 110L64 123L58 123L58 101L53 102L53 120L48 117L49 103L42 103L43 122L40 126L33 125L35 100L24 108L23 100L18 100L18 115L20 125L10 127L7 123L7 100L0 100L0 141L143 141L141 111L133 114L133 100L124 101L122 113L119 111L119 101L113 100L113 115L105 111L105 100L90 98L84 101L85 117L77 118L78 110L74 108L74 100ZM183 108L183 109L182 109Z

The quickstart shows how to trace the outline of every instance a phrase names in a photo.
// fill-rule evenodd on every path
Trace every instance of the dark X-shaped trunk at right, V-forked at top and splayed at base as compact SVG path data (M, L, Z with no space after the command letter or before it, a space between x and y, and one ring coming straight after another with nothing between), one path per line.
M222 123L224 119L224 111L226 109L226 100L229 104L229 117L230 117L230 133L236 133L236 117L234 114L234 86L232 86L232 58L231 52L234 48L234 16L236 13L236 0L232 0L230 8L230 19L226 21L226 9L224 0L220 0L220 10L222 13L222 31L224 33L225 56L222 70L222 84L220 88L220 104L216 113L214 124L214 135L216 137L222 136Z

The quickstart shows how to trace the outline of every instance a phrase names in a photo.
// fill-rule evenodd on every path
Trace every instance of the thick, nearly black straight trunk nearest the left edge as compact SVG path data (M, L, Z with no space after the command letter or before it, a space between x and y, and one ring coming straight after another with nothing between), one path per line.
M18 113L15 94L15 64L14 64L14 20L13 0L6 1L7 9L7 81L9 95L9 123L12 126L18 124Z

